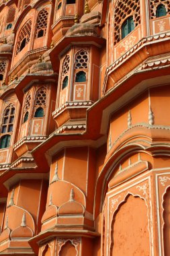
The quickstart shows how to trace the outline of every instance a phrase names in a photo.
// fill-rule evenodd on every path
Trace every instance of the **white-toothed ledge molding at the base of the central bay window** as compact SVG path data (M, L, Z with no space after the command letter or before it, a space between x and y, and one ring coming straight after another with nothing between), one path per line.
M89 106L93 105L93 101L89 100L89 101L71 101L71 102L65 102L65 104L62 104L62 106L60 106L59 108L57 108L56 110L54 110L54 112L52 113L52 117L56 117L62 110L64 110L65 108L88 108Z

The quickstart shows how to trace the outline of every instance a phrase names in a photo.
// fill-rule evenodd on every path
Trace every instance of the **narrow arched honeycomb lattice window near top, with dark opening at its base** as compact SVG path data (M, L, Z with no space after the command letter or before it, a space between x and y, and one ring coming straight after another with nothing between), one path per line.
M37 24L36 24L36 38L45 36L46 28L47 28L47 20L48 20L48 11L46 9L42 9L42 11L38 13Z

